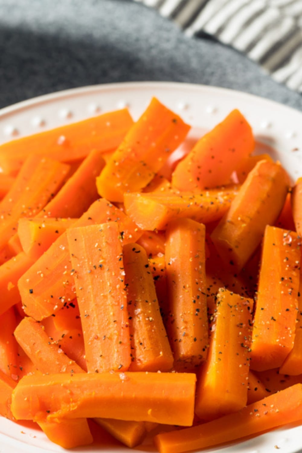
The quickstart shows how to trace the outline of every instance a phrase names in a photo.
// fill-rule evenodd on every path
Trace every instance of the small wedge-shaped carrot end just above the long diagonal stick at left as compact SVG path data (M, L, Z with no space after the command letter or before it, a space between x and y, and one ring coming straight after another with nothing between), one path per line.
M77 219L33 217L19 220L18 236L24 252L38 260L61 234Z

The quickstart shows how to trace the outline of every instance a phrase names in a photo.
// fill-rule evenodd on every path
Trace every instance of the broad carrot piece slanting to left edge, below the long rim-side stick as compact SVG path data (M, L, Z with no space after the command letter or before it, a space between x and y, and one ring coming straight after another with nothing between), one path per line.
M30 155L0 201L0 249L14 235L19 217L34 217L62 186L69 165Z

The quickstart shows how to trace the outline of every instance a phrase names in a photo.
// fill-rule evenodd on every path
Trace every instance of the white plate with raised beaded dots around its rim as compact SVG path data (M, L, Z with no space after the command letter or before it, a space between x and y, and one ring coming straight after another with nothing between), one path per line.
M20 102L0 111L0 143L78 121L101 112L129 107L138 118L152 96L193 125L190 137L211 129L238 108L253 126L256 139L272 146L292 179L302 175L302 113L242 92L183 83L140 82L100 85L67 90ZM258 152L265 151L258 146ZM302 426L282 428L227 448L203 450L221 453L297 453L302 449ZM148 446L129 450L120 446L91 446L77 452L153 451ZM0 417L0 453L63 452L62 448L30 427ZM155 450L154 450L155 451Z

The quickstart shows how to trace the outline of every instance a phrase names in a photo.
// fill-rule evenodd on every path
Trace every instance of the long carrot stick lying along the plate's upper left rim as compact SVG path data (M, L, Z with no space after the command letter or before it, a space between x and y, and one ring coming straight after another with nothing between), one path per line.
M0 167L15 174L29 152L61 162L79 161L92 149L115 149L132 124L128 110L123 109L13 140L0 146Z

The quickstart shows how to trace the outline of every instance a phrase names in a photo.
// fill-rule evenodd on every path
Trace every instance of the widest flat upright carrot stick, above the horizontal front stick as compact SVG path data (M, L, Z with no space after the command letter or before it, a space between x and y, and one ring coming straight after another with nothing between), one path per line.
M130 340L116 222L67 230L88 372L128 370Z

